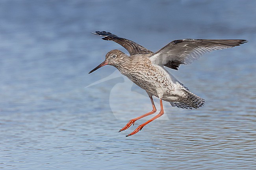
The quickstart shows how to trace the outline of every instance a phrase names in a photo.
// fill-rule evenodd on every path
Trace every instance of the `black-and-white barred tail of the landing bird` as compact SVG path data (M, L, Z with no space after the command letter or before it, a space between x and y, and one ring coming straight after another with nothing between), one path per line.
M175 102L170 102L173 107L178 107L182 109L192 109L199 108L204 105L204 99L191 93L188 90L184 90L186 97L181 97Z

